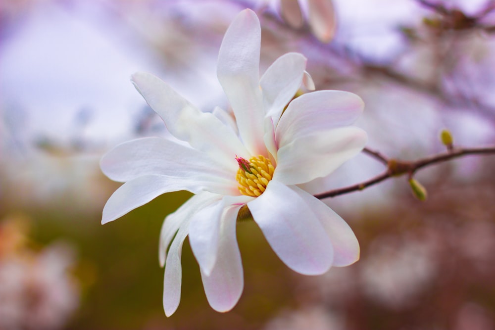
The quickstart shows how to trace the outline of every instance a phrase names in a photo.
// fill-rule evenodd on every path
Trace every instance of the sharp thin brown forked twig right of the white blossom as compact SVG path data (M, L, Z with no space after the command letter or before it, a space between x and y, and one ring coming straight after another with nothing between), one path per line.
M485 148L454 148L452 151L439 153L433 156L420 158L415 161L402 161L398 159L389 159L377 151L373 151L369 148L365 148L363 152L378 159L380 162L387 165L387 170L382 174L352 186L330 190L317 195L314 195L318 199L334 197L343 195L352 191L363 190L367 187L376 185L382 181L385 181L392 177L399 177L407 174L409 178L412 178L414 173L422 168L439 164L454 158L460 158L467 155L483 155L483 154L495 154L495 146Z

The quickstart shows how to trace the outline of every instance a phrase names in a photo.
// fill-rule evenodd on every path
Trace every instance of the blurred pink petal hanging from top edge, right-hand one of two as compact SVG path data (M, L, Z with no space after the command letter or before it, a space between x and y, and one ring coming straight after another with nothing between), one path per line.
M322 43L330 42L335 35L337 19L332 0L307 0L308 21L313 34Z

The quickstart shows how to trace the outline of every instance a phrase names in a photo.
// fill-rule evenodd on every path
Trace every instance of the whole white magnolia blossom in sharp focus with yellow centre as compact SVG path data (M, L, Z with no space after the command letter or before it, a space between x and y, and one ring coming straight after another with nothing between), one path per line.
M287 53L260 78L260 41L259 20L246 9L220 47L218 79L235 120L219 108L201 112L151 74L134 74L132 82L172 137L128 141L101 160L110 179L125 182L108 199L103 224L165 192L195 193L165 218L160 233L167 316L179 305L187 236L209 304L225 312L237 303L244 279L236 221L246 206L275 253L298 273L322 274L359 258L347 223L299 185L329 175L363 148L366 133L349 126L363 102L341 91L292 100L307 78L306 58Z

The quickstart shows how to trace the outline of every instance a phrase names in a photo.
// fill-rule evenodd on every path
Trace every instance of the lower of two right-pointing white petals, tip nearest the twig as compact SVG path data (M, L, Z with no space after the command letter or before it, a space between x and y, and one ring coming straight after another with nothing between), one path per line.
M299 185L326 177L357 155L367 141L366 132L354 126L300 137L278 150L273 180Z

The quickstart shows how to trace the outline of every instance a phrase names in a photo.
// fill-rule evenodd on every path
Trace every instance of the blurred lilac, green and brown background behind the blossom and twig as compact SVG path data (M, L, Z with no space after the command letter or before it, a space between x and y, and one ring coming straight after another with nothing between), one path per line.
M187 243L177 312L161 305L158 236L190 194L162 195L101 226L119 186L99 170L116 144L166 134L129 77L149 71L203 111L227 101L216 57L235 15L262 26L261 70L308 58L316 89L359 94L369 147L416 159L495 141L493 0L3 0L0 3L0 330L495 329L495 159L472 156L325 200L361 259L308 277L238 224L245 289L207 304ZM379 174L359 155L328 189Z

